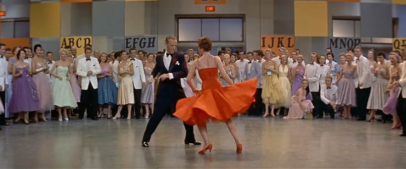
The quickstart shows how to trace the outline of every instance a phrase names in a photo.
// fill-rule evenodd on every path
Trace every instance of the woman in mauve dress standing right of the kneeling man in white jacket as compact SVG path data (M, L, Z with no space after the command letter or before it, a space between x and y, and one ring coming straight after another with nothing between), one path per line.
M347 65L342 67L342 71L336 81L336 83L338 83L341 80L341 84L338 86L338 91L341 92L340 95L338 95L337 105L344 107L343 119L351 118L351 108L356 107L354 84L356 66L351 64L353 62L353 54L348 53L346 55L346 61Z

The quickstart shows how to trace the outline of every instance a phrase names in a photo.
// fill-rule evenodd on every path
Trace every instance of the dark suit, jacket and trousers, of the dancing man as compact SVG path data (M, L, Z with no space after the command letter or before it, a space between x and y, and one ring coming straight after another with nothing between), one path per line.
M163 75L167 73L173 74L173 79L166 79L160 81L156 92L156 100L154 112L147 128L145 129L143 142L149 142L152 133L158 127L165 114L172 114L175 112L176 103L179 99L185 98L180 79L185 78L188 74L187 62L185 62L183 54L175 52L172 54L172 60L169 65L169 70L166 69L163 57L167 57L166 53L156 56L156 64L152 70L152 76ZM149 78L148 78L149 79ZM195 134L193 133L193 126L184 123L186 129L185 142L195 142Z

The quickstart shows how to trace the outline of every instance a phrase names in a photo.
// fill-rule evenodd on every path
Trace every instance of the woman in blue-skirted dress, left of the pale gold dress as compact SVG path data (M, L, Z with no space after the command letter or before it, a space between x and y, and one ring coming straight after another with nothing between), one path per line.
M117 104L117 87L111 79L112 70L110 64L108 64L107 53L101 53L100 55L100 67L101 73L98 77L98 102L99 102L99 114L98 118L103 116L103 106L107 105L107 119L111 118L111 105Z

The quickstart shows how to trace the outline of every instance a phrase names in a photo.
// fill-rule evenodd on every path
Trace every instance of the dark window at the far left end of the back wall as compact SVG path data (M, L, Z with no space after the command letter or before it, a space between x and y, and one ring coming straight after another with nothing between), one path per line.
M30 37L29 21L1 21L1 38Z

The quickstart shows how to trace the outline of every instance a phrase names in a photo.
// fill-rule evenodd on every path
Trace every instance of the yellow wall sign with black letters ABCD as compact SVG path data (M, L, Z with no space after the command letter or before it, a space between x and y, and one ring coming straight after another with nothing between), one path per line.
M92 44L92 37L60 37L59 48L63 49L65 46L75 46L77 54L84 53L86 44Z

